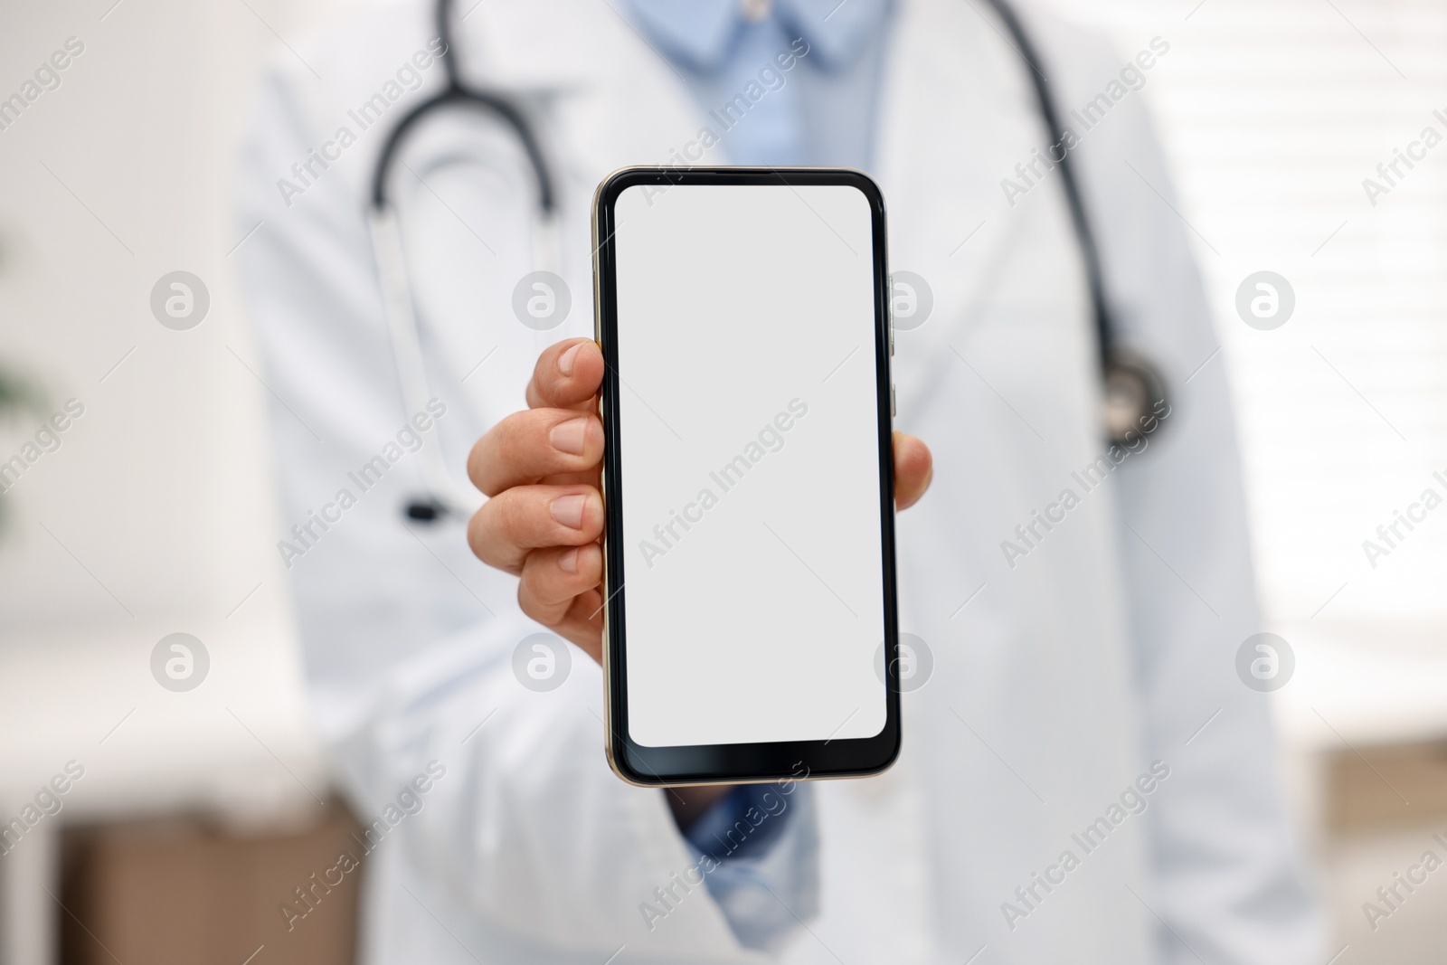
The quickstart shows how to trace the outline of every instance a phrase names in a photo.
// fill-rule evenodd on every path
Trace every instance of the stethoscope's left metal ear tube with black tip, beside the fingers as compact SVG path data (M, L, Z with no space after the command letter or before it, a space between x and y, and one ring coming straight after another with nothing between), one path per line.
M417 315L412 311L412 292L407 284L407 255L402 250L402 231L396 211L391 204L368 208L368 229L372 234L372 253L376 258L378 281L382 288L382 310L392 340L392 356L396 360L396 378L402 391L402 404L408 418L427 411L427 367L423 360L421 337L417 331ZM437 430L440 434L441 430ZM414 499L407 506L407 516L430 522L443 515L467 519L482 505L482 493L467 490L453 482L438 440L423 444L417 453L423 482L428 496Z

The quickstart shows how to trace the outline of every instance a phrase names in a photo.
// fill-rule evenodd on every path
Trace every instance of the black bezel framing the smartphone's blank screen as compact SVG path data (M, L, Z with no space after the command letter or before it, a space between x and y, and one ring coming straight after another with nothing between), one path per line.
M627 606L622 543L622 451L618 441L619 388L616 333L615 211L618 195L631 187L655 185L845 185L870 203L874 246L874 365L878 421L880 535L883 548L886 723L871 738L650 747L628 735L628 693L624 674ZM606 749L614 771L632 784L761 783L803 777L865 777L887 770L900 751L899 615L894 554L893 375L888 305L888 246L884 195L874 181L845 168L624 168L598 185L593 197L595 337L606 362L599 392L599 415L608 444L603 450L603 499L608 521L603 538L606 687ZM721 686L726 686L721 680Z

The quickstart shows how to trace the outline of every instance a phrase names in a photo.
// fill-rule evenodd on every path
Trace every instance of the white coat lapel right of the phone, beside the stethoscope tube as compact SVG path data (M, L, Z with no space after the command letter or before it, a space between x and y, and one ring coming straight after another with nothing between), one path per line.
M935 301L926 323L899 336L904 412L939 378L958 375L956 352L975 363L981 331L1006 326L1022 307L1032 311L1017 321L1072 326L1084 305L1058 185L1016 207L1000 188L1045 135L1030 68L981 16L977 4L949 0L906 0L896 12L875 145L890 268L923 276ZM1040 422L1056 399L1003 394L1049 437Z

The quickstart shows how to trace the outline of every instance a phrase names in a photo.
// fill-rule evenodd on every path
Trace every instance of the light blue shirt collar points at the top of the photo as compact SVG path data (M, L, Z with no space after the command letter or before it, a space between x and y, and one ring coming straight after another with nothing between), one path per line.
M773 19L802 36L810 59L838 68L864 48L891 0L773 0ZM674 64L700 74L719 69L750 26L741 0L628 0L634 23Z

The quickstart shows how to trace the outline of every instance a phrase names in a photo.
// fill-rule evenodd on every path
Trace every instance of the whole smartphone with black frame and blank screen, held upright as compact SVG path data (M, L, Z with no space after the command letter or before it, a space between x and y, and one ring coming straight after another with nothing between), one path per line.
M884 198L625 168L593 198L608 761L848 777L900 748Z

